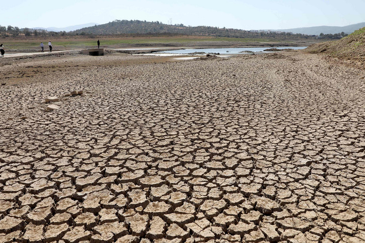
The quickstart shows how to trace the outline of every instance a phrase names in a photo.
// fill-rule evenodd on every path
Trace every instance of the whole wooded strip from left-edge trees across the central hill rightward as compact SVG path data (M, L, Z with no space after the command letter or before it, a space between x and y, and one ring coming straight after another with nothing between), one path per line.
M185 26L183 24L167 25L161 22L147 22L140 20L115 20L103 25L82 28L70 32L54 32L46 30L34 30L29 28L20 29L12 26L0 25L0 36L91 36L91 35L187 35L187 36L212 36L228 38L259 38L277 40L301 40L301 39L340 39L346 34L322 34L304 35L287 32L273 31L245 31L238 29L227 29L225 27L210 26Z

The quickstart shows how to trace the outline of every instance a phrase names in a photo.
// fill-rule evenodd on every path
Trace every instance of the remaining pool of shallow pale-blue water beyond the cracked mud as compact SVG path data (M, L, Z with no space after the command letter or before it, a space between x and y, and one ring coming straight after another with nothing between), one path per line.
M204 53L219 53L219 54L248 54L245 51L251 52L264 52L263 50L269 48L277 48L277 49L294 49L294 50L302 50L307 48L303 47L244 47L244 48L209 48L209 49L181 49L181 50L170 50L170 51L160 51L156 53L172 53L172 54L189 54L195 52L204 52ZM244 52L244 53L241 53Z

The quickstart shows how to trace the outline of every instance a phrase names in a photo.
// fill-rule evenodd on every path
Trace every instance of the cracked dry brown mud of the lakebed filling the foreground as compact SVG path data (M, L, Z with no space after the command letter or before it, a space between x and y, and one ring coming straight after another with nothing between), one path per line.
M0 242L365 241L363 71L148 58L2 67Z

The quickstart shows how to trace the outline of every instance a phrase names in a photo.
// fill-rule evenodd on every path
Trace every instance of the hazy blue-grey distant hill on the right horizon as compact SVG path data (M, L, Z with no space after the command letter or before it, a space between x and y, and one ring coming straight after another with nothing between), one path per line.
M291 32L294 34L304 34L304 35L316 35L319 34L336 34L344 32L346 34L350 34L355 30L358 30L362 27L365 27L365 22L347 25L347 26L315 26L315 27L307 27L307 28L295 28L295 29L284 29L284 30L272 30L272 31L281 31L281 32Z

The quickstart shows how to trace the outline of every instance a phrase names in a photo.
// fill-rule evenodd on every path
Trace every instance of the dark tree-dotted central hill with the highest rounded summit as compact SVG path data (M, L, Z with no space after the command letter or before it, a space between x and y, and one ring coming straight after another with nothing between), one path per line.
M231 38L278 38L278 39L313 39L302 34L288 34L276 32L256 32L238 29L226 29L209 26L166 25L158 21L147 22L140 20L115 20L103 25L82 28L71 32L76 35L118 35L118 34L176 34L190 36L215 36Z

